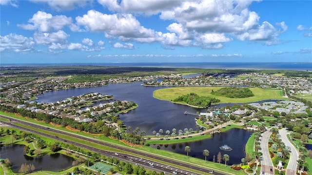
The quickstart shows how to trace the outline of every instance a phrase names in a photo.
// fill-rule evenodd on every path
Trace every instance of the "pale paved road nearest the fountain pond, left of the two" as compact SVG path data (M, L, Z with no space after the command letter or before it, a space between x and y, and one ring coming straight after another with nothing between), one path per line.
M260 160L261 162L261 172L264 172L265 175L274 175L274 167L273 162L270 157L269 153L269 139L271 136L271 131L267 130L264 132L260 137L260 146L261 146L261 152L263 159ZM272 172L270 171L272 169Z

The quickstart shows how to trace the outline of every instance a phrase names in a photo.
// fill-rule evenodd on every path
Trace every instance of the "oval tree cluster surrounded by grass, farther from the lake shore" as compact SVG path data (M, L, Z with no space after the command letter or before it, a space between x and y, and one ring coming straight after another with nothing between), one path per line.
M253 91L251 91L249 88L240 87L220 88L217 91L212 90L211 94L229 98L246 98L254 96Z

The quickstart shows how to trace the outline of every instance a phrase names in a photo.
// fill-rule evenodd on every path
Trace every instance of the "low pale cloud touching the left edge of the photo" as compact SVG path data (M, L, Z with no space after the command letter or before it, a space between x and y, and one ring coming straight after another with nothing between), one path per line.
M27 52L36 46L32 37L23 35L9 34L0 36L0 51L13 50L14 52Z

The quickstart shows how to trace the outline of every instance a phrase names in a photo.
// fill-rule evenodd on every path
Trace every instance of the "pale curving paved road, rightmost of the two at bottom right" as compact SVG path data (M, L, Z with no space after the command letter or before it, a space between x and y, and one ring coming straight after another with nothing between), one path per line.
M295 175L297 170L297 160L299 159L299 152L288 140L287 134L289 134L289 132L287 132L286 128L282 128L278 132L281 135L281 140L285 143L285 145L291 147L291 157L287 165L286 175Z

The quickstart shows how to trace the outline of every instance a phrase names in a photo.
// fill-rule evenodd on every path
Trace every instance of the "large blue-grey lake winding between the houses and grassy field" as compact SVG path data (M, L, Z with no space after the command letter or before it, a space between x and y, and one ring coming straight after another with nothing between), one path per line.
M37 101L51 103L89 92L99 92L102 94L113 95L116 100L135 102L138 105L136 109L131 110L126 114L120 114L119 117L126 126L131 126L133 129L139 127L140 130L144 130L147 135L152 135L154 130L158 132L159 129L163 129L163 132L166 130L172 131L173 128L176 128L176 131L179 129L184 131L184 128L193 128L196 130L195 116L185 115L184 112L206 112L206 109L198 109L187 105L174 104L170 101L158 100L153 97L153 91L168 87L140 86L142 83L143 82L109 84L108 86L102 87L50 91L38 95L39 99ZM225 105L233 104L218 104L212 105L212 107L219 108Z

